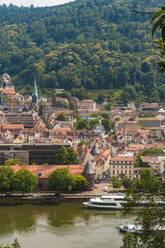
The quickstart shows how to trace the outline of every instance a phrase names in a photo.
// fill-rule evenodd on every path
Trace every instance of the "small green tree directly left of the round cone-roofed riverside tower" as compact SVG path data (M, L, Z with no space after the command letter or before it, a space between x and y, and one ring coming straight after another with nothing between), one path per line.
M85 191L87 189L88 182L84 176L74 175L73 176L73 191Z

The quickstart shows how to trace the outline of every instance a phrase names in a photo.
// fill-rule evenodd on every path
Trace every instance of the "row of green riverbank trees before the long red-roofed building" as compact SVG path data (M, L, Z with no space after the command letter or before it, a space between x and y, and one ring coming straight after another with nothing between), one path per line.
M14 173L9 166L0 167L0 193L34 192L38 179L32 172L20 169ZM81 192L87 189L87 180L82 175L72 175L68 168L59 168L48 176L48 190L57 192Z

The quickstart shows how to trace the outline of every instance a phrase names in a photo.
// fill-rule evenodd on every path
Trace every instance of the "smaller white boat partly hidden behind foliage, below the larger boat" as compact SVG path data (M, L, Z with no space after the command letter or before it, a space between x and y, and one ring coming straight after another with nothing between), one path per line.
M136 233L140 234L143 232L142 227L140 225L135 224L125 224L119 226L120 232L130 232L130 233ZM158 232L165 232L165 226L155 226L152 231L158 231Z

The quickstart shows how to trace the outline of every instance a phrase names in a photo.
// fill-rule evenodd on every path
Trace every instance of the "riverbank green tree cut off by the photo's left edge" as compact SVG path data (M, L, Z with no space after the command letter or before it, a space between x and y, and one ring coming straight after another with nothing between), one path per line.
M0 167L0 192L4 193L12 189L14 171L7 166Z

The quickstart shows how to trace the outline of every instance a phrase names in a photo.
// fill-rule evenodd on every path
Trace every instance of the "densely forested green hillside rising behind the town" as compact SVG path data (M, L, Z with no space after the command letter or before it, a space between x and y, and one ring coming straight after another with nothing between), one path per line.
M0 72L18 89L124 89L128 100L165 98L150 19L164 0L78 0L30 8L0 6ZM122 93L122 90L120 91Z

